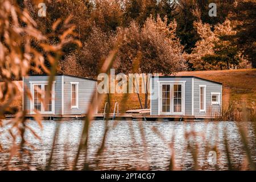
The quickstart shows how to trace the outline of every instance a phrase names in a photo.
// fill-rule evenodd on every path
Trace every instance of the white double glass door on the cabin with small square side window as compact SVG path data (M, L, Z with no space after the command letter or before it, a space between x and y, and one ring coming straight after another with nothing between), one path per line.
M183 84L160 84L160 114L183 114Z

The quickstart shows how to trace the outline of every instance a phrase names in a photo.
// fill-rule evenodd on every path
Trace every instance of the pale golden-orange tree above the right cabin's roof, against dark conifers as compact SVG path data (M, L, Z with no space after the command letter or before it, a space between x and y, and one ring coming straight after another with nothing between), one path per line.
M230 65L238 65L242 61L241 52L232 44L236 35L230 20L212 27L208 23L195 22L194 26L200 35L196 47L187 59L193 68L200 70L229 69ZM212 30L213 29L213 30Z

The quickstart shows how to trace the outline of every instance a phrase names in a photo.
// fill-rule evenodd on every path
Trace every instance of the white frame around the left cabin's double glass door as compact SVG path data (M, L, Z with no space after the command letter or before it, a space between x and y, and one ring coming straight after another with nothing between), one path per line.
M30 100L30 114L35 114L34 109L34 86L35 85L41 85L41 89L43 85L48 85L48 81L30 81L30 93L32 95L32 100ZM42 89L42 92L44 92L44 89ZM55 114L55 81L52 82L52 111L44 111L44 104L42 104L42 111L40 111L41 114Z

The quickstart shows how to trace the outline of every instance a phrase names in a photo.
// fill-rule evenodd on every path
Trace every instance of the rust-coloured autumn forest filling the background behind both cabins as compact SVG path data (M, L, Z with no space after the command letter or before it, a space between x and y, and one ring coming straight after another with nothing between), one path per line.
M38 16L40 2L46 3L45 17ZM217 5L216 17L208 14L212 2ZM28 0L19 6L28 10L44 34L58 18L71 17L76 25L82 46L64 46L58 72L95 78L117 40L118 72L136 69L171 75L256 67L253 0Z

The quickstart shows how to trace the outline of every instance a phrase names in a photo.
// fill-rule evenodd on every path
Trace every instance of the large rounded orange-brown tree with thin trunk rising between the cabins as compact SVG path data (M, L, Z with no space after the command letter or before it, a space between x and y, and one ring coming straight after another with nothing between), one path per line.
M177 38L176 22L167 24L158 16L147 18L144 26L132 22L127 28L119 28L117 36L123 41L118 53L119 72L162 73L171 75L184 69L183 46ZM148 88L148 80L145 87ZM144 107L147 108L148 90Z

